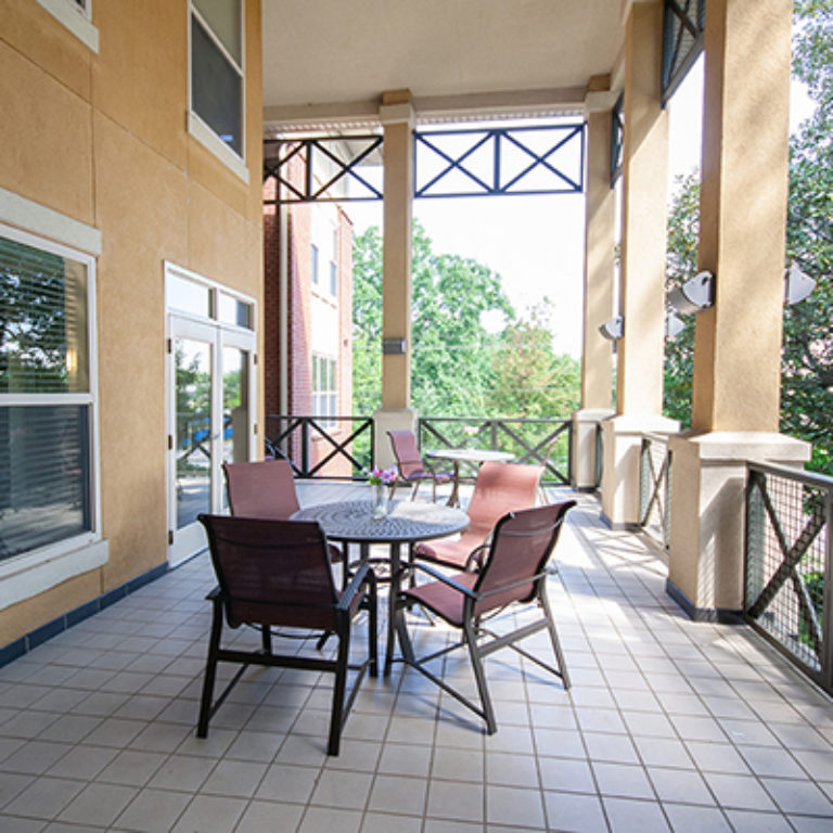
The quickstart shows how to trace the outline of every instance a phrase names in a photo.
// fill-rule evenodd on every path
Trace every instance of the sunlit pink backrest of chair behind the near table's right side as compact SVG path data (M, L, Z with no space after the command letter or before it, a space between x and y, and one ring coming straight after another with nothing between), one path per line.
M534 507L542 471L540 465L487 460L477 472L466 509L466 538L483 541L507 512Z

